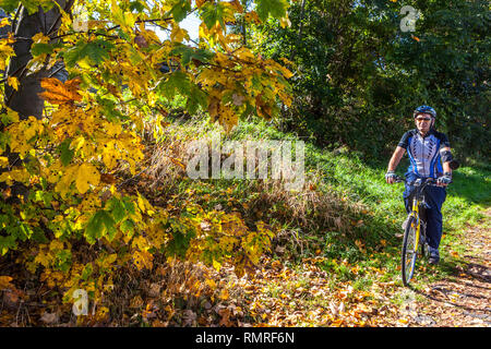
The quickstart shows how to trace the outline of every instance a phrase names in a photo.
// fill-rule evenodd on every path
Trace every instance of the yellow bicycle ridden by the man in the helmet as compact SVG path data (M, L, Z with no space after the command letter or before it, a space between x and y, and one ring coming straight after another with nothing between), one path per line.
M403 250L400 255L400 273L404 286L409 286L415 274L416 260L418 255L428 257L429 245L427 242L427 220L426 220L426 201L424 189L428 185L434 185L435 179L417 179L415 182L407 182L397 177L395 182L406 182L415 186L412 194L412 208L408 215L406 229L404 231Z

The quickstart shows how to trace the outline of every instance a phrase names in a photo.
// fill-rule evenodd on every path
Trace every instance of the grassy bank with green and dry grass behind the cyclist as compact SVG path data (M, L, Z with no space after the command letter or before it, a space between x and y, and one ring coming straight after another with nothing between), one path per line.
M211 132L218 132L218 129L200 119L175 122L160 142L163 148L175 145L172 148L180 153L173 156L183 157L184 141ZM242 122L228 140L298 139L295 134L279 132L264 120L253 120ZM161 153L159 158L163 158ZM314 186L311 192L289 193L280 185L256 180L183 180L182 171L173 173L181 177L170 181L180 183L171 192L185 195L193 190L206 197L201 203L203 207L213 209L219 205L224 209L238 209L250 224L263 219L276 226L280 233L275 243L280 246L279 251L282 246L285 250L280 257L294 264L301 257L320 255L346 261L347 265L356 264L361 269L382 269L383 281L398 280L402 240L395 233L400 232L406 216L402 200L404 186L385 183L386 161L369 164L358 153L345 148L328 152L306 142L307 182ZM158 167L158 161L156 165ZM399 165L399 174L405 168L407 159ZM451 265L462 260L447 251L460 254L465 228L476 225L482 218L482 210L490 205L490 172L486 164L463 167L455 172L454 183L447 190L441 251ZM448 276L453 269L443 265L436 275ZM357 288L369 288L372 282L370 275L354 275L349 267L339 264L336 267L326 264L325 270L339 280L352 280Z

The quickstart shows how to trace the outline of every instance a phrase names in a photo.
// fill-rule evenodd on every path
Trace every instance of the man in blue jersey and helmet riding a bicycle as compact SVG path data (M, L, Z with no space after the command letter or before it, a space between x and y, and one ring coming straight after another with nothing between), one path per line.
M397 178L395 169L404 154L408 153L410 165L405 173L406 190L403 198L406 210L411 212L414 186L407 183L416 179L436 179L438 186L427 186L427 239L430 246L430 263L440 262L439 245L442 239L442 205L446 197L445 186L452 182L451 161L453 159L448 139L434 129L436 111L429 106L420 106L414 111L416 129L406 132L388 161L385 181L393 184ZM407 219L405 221L407 225ZM403 225L404 227L404 225ZM404 227L405 228L405 227Z

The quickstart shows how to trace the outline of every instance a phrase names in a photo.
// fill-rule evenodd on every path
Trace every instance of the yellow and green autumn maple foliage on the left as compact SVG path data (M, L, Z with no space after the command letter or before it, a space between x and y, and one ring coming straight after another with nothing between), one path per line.
M279 11L276 1L256 3L263 20L286 13L284 2ZM70 79L39 75L39 97L47 110L43 116L19 113L5 95L1 255L19 250L19 261L64 292L65 301L73 301L76 289L97 301L110 290L116 268L151 270L157 255L203 261L216 268L231 262L238 275L258 263L273 237L264 224L250 229L238 216L204 212L193 202L181 203L185 209L173 213L124 186L141 172L143 121L153 118L156 128L163 125L167 108L159 101L169 105L183 98L189 113L205 110L226 131L240 116L271 118L277 98L289 104L289 71L253 55L238 44L237 35L227 33L226 23L236 13L258 17L255 12L224 1L196 1L195 8L190 0L80 1L75 8L88 16L86 31L80 31L72 9L53 1L1 3L10 23L17 7L34 14L38 5L44 11L58 7L61 26L32 38L9 32L1 39L1 69L16 55L14 43L32 41L31 60L7 84L15 94L27 88L29 75L59 61ZM189 36L179 26L193 11L203 21L197 47L183 44ZM147 24L167 31L169 39L160 39ZM160 70L163 62L170 68L167 72ZM24 195L14 188L26 189ZM84 254L83 245L92 253Z

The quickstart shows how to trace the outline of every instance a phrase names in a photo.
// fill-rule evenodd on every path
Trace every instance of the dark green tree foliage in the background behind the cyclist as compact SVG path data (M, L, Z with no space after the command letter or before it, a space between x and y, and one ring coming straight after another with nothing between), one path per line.
M421 15L402 32L399 13ZM262 55L291 61L294 103L279 124L336 148L378 158L395 148L420 105L438 111L462 159L489 157L489 3L487 1L306 0L291 26L256 26Z

